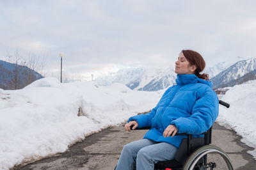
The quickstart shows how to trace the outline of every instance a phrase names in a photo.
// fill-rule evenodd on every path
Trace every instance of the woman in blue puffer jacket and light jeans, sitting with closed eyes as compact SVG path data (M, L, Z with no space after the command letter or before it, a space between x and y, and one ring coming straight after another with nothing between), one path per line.
M198 137L207 131L218 116L218 97L211 89L202 56L193 50L182 50L175 62L177 79L168 88L156 107L147 114L129 118L125 130L151 127L143 139L126 144L122 150L116 170L154 169L161 160L172 160L180 142L186 135Z

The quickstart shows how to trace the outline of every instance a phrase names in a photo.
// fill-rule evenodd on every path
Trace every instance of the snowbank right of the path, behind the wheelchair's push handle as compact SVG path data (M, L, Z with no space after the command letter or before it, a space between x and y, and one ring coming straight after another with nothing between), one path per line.
M241 135L243 143L256 148L256 81L248 81L228 89L221 100L228 102L230 108L220 105L217 121ZM256 159L256 150L248 153Z

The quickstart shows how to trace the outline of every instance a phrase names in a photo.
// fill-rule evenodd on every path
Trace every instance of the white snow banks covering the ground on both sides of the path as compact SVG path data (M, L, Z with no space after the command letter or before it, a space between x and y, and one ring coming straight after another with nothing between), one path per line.
M90 134L149 111L163 92L132 91L123 84L60 84L53 78L20 90L0 89L0 169L64 152ZM256 148L256 81L229 88L221 100L230 108L220 106L218 122Z

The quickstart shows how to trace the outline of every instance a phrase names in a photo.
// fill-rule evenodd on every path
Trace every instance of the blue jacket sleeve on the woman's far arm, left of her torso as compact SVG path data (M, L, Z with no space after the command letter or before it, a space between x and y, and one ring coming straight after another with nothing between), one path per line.
M156 111L159 107L159 103L161 103L161 100L169 93L169 91L173 88L170 87L168 88L163 96L161 97L161 99L159 100L158 104L156 105L156 107L154 107L154 109L152 109L152 111L148 112L147 114L139 114L136 116L132 116L131 118L129 118L129 121L137 121L138 123L138 128L141 127L151 127L151 123L152 123L152 119L154 118L154 116L156 115Z

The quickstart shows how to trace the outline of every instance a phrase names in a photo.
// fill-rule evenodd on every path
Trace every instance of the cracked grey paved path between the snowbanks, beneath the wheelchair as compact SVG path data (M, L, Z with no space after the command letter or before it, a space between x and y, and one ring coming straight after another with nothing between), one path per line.
M113 169L124 144L141 139L146 130L125 132L124 125L109 127L102 132L86 137L66 153L58 157L45 158L20 169ZM246 153L249 148L240 142L235 132L214 124L212 144L219 146L231 158L235 169L256 169L256 161Z

